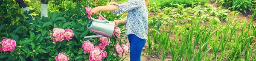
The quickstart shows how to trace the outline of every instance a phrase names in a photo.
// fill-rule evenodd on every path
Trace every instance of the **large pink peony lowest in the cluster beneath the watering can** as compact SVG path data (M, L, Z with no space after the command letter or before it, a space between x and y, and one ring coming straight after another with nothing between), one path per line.
M102 61L102 53L97 47L90 51L89 61Z

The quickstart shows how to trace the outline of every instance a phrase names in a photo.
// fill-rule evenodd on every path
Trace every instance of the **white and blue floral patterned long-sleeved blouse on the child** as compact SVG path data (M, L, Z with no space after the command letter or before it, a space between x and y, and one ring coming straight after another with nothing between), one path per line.
M128 0L122 4L114 4L119 6L115 11L111 11L114 14L120 14L128 11L127 18L125 19L125 39L127 35L134 34L140 39L147 39L148 34L148 9L145 4L145 0Z

